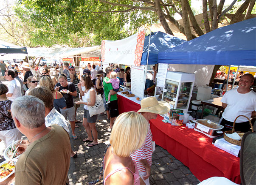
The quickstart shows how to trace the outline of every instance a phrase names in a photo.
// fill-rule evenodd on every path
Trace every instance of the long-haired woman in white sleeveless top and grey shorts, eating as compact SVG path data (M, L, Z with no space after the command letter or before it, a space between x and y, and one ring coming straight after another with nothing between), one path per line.
M80 94L83 96L83 101L75 101L76 104L84 104L83 126L88 134L84 142L89 142L86 146L92 147L98 144L98 132L96 130L96 120L98 114L90 116L88 106L94 106L96 101L96 90L93 87L93 82L87 74L81 76L81 82L77 84ZM90 99L90 102L87 100ZM92 133L93 137L92 137Z

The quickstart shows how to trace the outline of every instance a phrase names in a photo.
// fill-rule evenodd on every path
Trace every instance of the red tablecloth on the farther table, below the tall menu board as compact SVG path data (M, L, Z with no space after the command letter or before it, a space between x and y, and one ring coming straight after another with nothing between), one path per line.
M122 114L124 112L129 112L129 111L137 112L139 109L141 109L140 104L135 103L134 101L131 101L128 98L125 98L121 95L117 95L117 98L118 98L119 114Z

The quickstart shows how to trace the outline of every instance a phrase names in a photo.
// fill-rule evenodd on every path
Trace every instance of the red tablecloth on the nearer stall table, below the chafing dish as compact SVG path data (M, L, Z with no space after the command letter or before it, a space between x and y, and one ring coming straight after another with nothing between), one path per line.
M200 180L209 177L226 177L240 184L239 159L214 147L212 139L188 129L162 122L163 117L150 120L153 141L188 166Z

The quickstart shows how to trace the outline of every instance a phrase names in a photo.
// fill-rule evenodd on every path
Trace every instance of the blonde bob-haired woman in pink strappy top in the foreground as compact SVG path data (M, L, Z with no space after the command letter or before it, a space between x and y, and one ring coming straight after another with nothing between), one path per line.
M146 138L148 122L136 112L120 114L113 126L110 144L104 157L104 185L139 185L136 163L130 157Z

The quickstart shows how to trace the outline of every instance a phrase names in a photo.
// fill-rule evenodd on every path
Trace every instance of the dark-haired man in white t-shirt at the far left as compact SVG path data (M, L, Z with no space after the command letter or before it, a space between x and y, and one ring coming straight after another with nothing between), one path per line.
M14 79L14 71L8 70L4 74L5 79L10 83L8 84L8 93L6 94L8 100L14 101L16 98L21 96L21 87L20 82L17 79Z

